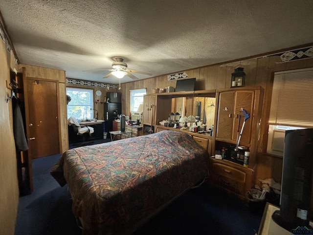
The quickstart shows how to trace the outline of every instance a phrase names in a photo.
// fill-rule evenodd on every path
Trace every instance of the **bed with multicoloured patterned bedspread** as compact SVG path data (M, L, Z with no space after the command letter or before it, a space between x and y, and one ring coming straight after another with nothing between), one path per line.
M51 175L72 196L84 235L130 234L201 183L208 153L177 131L161 131L66 151Z

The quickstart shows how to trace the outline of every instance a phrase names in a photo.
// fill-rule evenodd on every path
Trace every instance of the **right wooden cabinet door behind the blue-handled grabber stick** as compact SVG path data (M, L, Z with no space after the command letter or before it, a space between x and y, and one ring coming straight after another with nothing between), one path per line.
M245 115L243 109L250 115L246 120L243 133L240 139L240 144L245 145L250 143L251 139L251 125L253 119L254 91L237 91L235 95L234 119L233 119L233 133L232 140L237 141L241 132ZM240 120L240 123L239 123Z

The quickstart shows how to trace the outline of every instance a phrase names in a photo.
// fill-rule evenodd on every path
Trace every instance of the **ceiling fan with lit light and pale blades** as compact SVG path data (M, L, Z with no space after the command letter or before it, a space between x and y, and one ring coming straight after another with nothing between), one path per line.
M139 78L137 78L135 75L133 75L132 73L140 73L140 74L145 74L145 75L152 75L151 72L143 72L143 71L137 71L137 70L131 70L131 69L127 69L127 64L124 61L123 58L121 57L113 57L114 62L112 63L112 69L108 71L112 71L110 72L108 75L104 76L103 78L108 78L111 75L114 75L117 78L123 78L125 75L129 76L130 78L132 78L133 80L138 80ZM86 71L105 71L105 70L86 70Z

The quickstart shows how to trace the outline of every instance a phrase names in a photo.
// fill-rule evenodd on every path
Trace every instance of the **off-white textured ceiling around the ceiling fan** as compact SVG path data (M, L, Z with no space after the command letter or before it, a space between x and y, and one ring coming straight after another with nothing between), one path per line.
M122 56L157 76L313 42L313 0L1 0L0 11L20 63L112 84L110 71L83 71Z

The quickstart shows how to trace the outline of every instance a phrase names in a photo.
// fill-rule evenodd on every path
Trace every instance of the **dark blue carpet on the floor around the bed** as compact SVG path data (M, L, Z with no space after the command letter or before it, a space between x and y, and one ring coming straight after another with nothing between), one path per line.
M34 191L20 197L15 235L81 235L71 211L67 187L50 169L61 155L32 161ZM240 200L203 184L179 197L134 235L254 235L262 214Z

